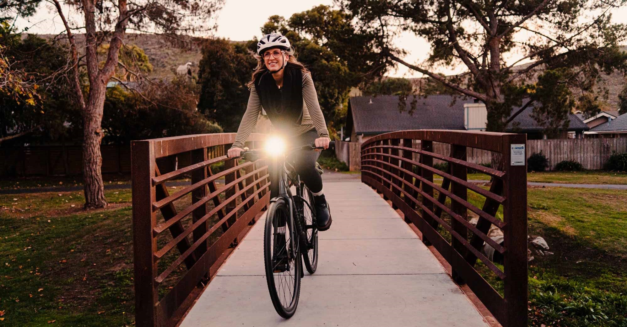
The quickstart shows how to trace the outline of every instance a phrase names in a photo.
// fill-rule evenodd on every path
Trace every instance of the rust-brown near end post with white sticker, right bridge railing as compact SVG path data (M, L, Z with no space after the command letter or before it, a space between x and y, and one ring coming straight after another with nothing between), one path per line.
M505 316L508 327L527 326L527 135L503 135ZM522 157L520 156L522 152ZM514 158L512 158L514 153ZM522 158L522 164L520 159Z

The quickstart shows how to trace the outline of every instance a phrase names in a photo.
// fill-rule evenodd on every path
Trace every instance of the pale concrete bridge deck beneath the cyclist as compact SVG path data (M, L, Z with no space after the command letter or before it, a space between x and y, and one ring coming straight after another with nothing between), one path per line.
M265 221L260 219L181 327L487 326L433 254L374 190L359 180L332 182L327 177L324 185L334 222L319 234L318 270L314 275L305 271L291 319L278 316L268 295Z

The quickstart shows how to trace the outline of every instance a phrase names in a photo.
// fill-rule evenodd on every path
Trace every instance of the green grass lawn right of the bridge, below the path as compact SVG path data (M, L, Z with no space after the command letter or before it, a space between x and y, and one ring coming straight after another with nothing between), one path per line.
M529 264L529 326L627 326L627 190L527 190L529 234L544 237L553 253ZM469 191L468 202L480 208L485 197ZM496 217L503 219L502 207ZM476 269L503 294L481 261Z

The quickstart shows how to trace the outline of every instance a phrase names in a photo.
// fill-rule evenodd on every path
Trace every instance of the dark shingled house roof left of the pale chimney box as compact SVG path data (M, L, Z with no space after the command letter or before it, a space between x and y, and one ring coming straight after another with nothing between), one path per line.
M347 130L358 134L386 133L397 130L465 130L464 106L468 100L450 95L416 97L416 110L409 113L413 96L406 100L406 110L399 110L396 95L353 96L349 100ZM452 104L451 104L452 103Z

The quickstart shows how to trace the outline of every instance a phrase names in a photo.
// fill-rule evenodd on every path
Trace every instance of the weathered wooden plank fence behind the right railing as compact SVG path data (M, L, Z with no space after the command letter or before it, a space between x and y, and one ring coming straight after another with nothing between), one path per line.
M412 147L419 149L420 140L413 140ZM354 145L353 145L354 144ZM433 142L433 152L441 155L450 153L451 145ZM574 160L583 165L584 169L603 169L605 162L613 151L627 152L627 138L563 138L556 140L527 140L527 157L540 153L549 160L549 170L555 168L562 160ZM335 142L335 155L349 165L350 170L358 170L357 157L359 148L355 142ZM468 148L466 160L473 164L490 164L492 152L477 148ZM414 160L418 155L414 154ZM435 159L434 164L444 163Z

